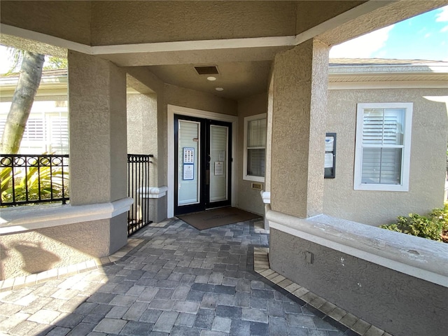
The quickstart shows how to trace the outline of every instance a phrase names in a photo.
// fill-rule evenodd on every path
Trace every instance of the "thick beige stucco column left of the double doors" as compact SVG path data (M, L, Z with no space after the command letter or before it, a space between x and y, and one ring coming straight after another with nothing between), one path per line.
M69 51L69 124L71 204L127 197L125 72Z

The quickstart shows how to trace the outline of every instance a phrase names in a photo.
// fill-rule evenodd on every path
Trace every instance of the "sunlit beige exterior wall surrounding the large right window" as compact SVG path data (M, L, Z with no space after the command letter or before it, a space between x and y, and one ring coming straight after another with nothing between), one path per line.
M425 96L446 94L443 89L330 90L325 131L337 133L336 178L325 179L324 214L381 225L442 207L447 105ZM356 104L370 102L414 102L409 192L353 190Z

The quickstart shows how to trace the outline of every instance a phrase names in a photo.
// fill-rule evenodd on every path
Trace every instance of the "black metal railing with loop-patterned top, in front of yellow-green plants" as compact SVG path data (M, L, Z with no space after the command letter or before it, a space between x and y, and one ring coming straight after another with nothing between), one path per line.
M69 201L69 155L0 154L0 206Z

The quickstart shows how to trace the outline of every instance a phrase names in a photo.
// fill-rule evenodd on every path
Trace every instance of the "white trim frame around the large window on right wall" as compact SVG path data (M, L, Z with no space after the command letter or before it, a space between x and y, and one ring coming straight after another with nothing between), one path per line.
M403 160L401 184L361 183L363 160L363 114L365 109L405 109L405 132L403 139ZM409 166L411 160L412 103L363 103L358 104L356 113L356 148L353 190L409 191Z

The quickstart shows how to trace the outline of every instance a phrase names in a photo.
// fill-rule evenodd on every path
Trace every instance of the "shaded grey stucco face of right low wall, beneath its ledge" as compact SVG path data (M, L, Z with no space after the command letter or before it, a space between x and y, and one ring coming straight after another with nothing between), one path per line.
M314 255L310 264L305 251ZM279 274L395 336L442 336L448 288L271 228Z

